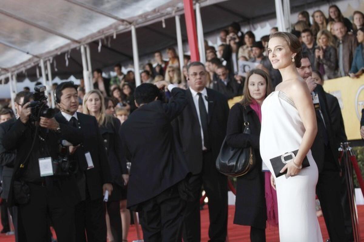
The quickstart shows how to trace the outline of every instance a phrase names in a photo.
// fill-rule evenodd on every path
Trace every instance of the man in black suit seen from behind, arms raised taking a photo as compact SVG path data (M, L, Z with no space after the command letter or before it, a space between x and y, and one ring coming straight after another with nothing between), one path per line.
M157 100L168 86L173 101ZM158 89L159 88L159 89ZM189 173L171 121L186 106L186 91L161 81L135 89L135 110L120 127L131 162L127 206L139 212L144 241L181 241L185 201L181 181Z

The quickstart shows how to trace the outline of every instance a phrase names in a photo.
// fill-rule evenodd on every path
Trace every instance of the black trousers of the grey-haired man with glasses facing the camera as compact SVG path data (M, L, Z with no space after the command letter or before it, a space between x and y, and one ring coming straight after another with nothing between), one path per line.
M203 153L202 171L197 175L192 175L189 183L196 199L187 202L183 241L201 241L199 198L202 185L209 198L209 241L225 241L227 235L227 177L215 168L215 161L212 159L210 151Z

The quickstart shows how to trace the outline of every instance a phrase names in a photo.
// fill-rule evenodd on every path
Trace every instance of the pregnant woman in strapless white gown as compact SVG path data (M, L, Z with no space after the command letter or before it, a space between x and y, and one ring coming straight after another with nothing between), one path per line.
M260 152L277 190L280 241L321 242L315 208L318 170L310 151L317 123L310 92L296 70L301 44L293 34L276 32L270 35L268 53L283 81L262 104ZM270 159L297 149L281 170L287 174L275 177ZM306 156L310 166L302 168Z

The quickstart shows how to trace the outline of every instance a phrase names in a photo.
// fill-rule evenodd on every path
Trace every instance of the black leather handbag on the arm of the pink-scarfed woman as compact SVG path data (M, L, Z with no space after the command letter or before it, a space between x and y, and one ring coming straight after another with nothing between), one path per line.
M250 134L249 122L243 108L244 134ZM253 148L233 148L226 143L226 137L222 142L220 153L216 159L216 169L227 176L242 176L252 170L256 164Z

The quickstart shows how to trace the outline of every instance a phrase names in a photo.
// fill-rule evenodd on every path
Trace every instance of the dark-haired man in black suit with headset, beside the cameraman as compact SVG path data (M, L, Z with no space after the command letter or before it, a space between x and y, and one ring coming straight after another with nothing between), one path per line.
M106 242L106 221L103 194L112 192L110 168L106 150L95 117L76 112L77 86L73 82L60 83L55 91L61 110L55 115L59 123L74 126L83 135L80 145L71 145L72 159L78 161L76 180L81 201L76 205L76 241ZM66 142L67 143L67 142ZM70 142L72 144L72 142ZM86 234L85 234L86 230Z

